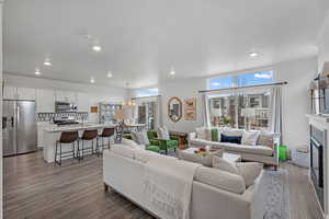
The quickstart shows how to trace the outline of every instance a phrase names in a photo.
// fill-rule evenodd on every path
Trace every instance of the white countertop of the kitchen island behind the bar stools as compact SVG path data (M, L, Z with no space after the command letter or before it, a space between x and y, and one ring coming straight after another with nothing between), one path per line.
M61 131L73 131L73 130L86 130L86 129L99 129L99 128L114 128L114 125L105 125L105 124L77 124L77 125L64 125L57 126L52 125L45 127L45 131L47 132L61 132Z

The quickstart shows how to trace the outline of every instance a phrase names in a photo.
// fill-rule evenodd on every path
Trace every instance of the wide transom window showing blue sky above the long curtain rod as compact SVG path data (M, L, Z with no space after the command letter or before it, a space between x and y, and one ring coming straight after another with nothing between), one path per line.
M208 89L227 89L236 87L260 85L273 82L273 71L258 71L238 76L208 79Z

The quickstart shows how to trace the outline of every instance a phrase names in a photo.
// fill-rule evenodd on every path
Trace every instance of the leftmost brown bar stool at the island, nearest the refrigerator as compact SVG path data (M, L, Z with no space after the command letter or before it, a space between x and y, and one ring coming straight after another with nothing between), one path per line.
M56 141L56 147L55 147L55 164L57 163L58 165L61 165L61 158L67 158L67 157L77 158L76 141L78 140L78 138L79 138L78 131L63 131L60 134L60 138L59 140ZM63 143L72 143L71 150L61 152ZM59 146L59 152L58 152L58 146ZM79 141L78 141L78 148L79 148ZM57 160L58 155L59 155L59 161Z

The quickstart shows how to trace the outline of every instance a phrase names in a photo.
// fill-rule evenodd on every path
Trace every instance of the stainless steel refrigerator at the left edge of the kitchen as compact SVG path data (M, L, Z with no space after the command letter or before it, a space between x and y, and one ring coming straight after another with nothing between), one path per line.
M3 157L36 151L35 101L3 100L2 146Z

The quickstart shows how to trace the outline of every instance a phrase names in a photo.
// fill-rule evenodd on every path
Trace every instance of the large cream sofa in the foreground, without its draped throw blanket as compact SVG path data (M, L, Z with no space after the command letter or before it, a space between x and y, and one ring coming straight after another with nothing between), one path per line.
M105 191L112 189L124 195L151 215L144 193L144 171L150 158L161 154L129 149L114 145L103 152L103 180ZM163 157L163 155L161 155ZM166 157L168 162L172 159ZM186 162L186 161L181 161ZM217 169L197 168L192 183L190 203L191 219L262 219L263 195L260 194L262 173L254 184L246 187L245 181L235 174Z

